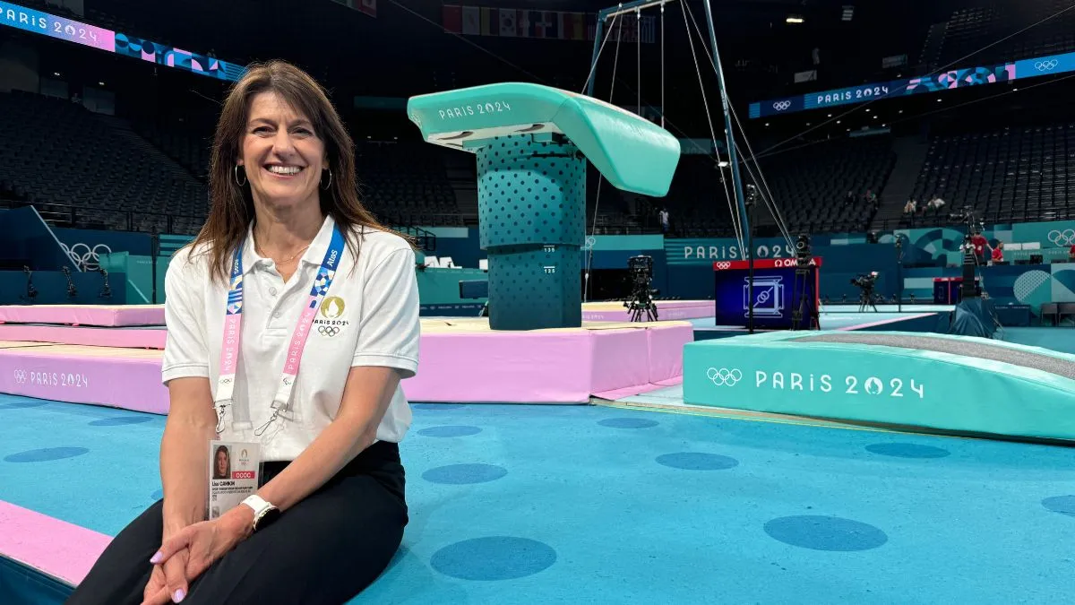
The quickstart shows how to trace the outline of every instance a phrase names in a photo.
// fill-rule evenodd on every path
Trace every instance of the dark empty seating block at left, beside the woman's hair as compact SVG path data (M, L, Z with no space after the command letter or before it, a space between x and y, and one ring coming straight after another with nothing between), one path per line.
M81 226L182 234L204 216L202 183L124 122L69 100L0 94L0 194L74 207Z

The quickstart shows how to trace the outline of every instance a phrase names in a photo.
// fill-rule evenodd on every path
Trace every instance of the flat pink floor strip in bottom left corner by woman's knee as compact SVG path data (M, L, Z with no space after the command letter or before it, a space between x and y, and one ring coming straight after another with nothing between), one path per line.
M112 537L0 501L0 554L71 586Z

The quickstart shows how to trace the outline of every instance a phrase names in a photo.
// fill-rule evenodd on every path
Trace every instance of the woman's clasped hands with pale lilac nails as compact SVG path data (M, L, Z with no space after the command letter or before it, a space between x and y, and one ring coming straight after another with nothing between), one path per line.
M223 517L180 530L149 559L153 574L142 605L180 603L192 582L250 533L254 511L236 506Z

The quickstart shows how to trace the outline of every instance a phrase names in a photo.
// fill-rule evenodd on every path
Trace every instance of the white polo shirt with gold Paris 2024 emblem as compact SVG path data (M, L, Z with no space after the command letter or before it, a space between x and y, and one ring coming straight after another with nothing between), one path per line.
M418 368L418 283L414 251L403 238L366 230L356 261L344 249L335 278L306 338L291 395L291 413L263 433L299 315L332 239L326 217L299 267L285 284L275 264L254 250L247 229L243 248L243 313L232 407L220 438L261 444L264 461L295 460L335 418L353 366L399 368L404 378ZM348 236L354 240L357 236ZM202 249L204 250L204 249ZM202 250L177 252L164 277L162 379L206 377L215 397L220 370L227 280L210 279ZM402 388L377 427L376 438L399 442L411 426Z

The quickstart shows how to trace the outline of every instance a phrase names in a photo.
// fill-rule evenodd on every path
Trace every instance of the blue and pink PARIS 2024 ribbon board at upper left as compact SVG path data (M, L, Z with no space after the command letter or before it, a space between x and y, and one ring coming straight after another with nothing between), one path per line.
M221 61L216 57L198 55L103 27L33 11L10 2L0 2L0 25L217 80L234 82L246 71L240 65Z

